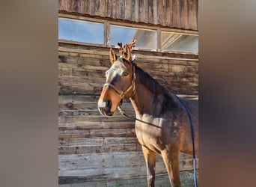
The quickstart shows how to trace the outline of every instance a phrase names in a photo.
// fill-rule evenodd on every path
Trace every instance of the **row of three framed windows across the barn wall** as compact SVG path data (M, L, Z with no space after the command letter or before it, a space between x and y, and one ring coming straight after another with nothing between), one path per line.
M137 40L135 49L198 54L198 32L134 25L64 14L58 18L58 39L100 46ZM68 18L66 18L68 17Z

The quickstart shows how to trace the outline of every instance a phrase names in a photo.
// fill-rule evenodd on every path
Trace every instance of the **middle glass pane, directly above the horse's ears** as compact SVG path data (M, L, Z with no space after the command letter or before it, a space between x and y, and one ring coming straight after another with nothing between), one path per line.
M141 28L129 28L118 25L110 25L110 44L118 46L118 42L129 43L137 40L135 48L156 49L156 31Z

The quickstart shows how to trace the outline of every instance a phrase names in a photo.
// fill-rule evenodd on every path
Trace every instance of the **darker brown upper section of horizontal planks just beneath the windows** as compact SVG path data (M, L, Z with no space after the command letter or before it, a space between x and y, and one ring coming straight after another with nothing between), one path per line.
M116 49L118 54L118 50ZM168 90L198 94L198 55L134 50L138 66ZM59 43L59 93L97 94L109 69L109 48Z

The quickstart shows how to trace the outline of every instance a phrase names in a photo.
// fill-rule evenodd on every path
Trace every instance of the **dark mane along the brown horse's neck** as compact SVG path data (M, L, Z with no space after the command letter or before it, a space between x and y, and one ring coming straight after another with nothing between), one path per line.
M163 95L168 94L168 90L164 88L156 79L153 79L148 73L144 72L140 67L135 65L135 73L136 78L138 78L141 84L145 85L150 91L153 93L159 94L162 93Z

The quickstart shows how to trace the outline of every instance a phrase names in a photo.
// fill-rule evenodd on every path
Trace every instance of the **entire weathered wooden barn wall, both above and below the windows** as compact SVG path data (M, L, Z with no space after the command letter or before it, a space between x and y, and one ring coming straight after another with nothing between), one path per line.
M198 31L198 0L59 0L59 12ZM134 50L138 67L174 93L198 95L198 55ZM105 117L97 99L110 67L109 48L59 42L59 183L146 177L134 121ZM132 105L123 108L134 115ZM157 156L156 174L166 174ZM192 170L192 156L180 154L181 171ZM138 185L139 186L139 185Z

